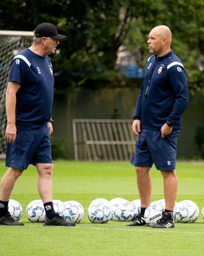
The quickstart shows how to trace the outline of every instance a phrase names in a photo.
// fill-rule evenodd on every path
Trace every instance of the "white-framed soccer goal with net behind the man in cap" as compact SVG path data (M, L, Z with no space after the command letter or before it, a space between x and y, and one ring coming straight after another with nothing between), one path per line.
M11 61L18 52L30 47L32 41L33 32L0 30L0 154L5 153L7 145L5 139L7 125L5 93Z

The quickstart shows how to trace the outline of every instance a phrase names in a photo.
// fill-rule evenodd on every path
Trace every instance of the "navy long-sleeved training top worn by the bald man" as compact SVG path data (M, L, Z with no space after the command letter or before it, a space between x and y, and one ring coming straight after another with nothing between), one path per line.
M160 130L169 121L174 130L180 130L187 103L188 85L181 60L172 50L158 59L156 55L150 56L133 120L140 120L143 129Z

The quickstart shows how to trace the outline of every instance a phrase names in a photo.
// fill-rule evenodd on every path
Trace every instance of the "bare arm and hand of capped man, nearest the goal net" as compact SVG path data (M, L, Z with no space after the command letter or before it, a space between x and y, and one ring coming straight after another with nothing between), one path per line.
M13 143L16 138L16 93L20 88L18 82L8 82L6 91L6 114L7 128L5 138L9 143Z

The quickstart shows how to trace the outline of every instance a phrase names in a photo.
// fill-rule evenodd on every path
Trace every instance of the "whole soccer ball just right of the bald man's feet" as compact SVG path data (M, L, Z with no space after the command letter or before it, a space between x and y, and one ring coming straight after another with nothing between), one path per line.
M198 216L199 209L193 201L181 201L174 208L174 219L178 222L192 223L197 220Z

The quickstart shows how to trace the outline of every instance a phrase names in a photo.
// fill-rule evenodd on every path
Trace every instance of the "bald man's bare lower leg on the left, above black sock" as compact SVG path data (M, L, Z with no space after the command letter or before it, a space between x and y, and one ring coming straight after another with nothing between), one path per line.
M140 195L141 207L147 208L150 205L152 193L152 179L149 166L135 166L137 174L137 187Z

